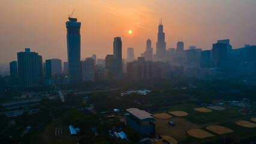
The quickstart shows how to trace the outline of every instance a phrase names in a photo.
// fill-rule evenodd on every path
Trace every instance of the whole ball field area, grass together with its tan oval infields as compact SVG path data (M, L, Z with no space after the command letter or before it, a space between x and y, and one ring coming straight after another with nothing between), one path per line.
M256 107L256 106L255 106ZM213 142L216 139L228 137L230 139L243 140L243 137L256 136L256 122L254 115L241 115L240 107L236 106L211 106L202 107L196 104L180 104L170 106L168 113L172 118L156 118L156 134L170 136L178 143ZM154 115L157 112L154 112ZM187 113L186 115L184 115ZM181 115L182 114L182 115ZM182 117L181 117L182 116ZM237 121L248 121L245 127L238 125ZM174 122L174 126L168 122ZM243 123L243 122L242 122Z

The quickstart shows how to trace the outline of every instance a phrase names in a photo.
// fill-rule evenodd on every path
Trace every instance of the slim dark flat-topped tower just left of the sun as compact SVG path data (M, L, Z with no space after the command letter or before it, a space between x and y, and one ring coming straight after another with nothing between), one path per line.
M114 73L115 77L122 76L122 41L121 37L115 37L113 42L114 48Z

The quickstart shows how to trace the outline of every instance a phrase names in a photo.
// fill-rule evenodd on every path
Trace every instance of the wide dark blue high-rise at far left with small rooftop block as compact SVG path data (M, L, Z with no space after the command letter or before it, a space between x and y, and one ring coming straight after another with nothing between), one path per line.
M22 86L38 85L38 53L25 52L17 53L19 82Z

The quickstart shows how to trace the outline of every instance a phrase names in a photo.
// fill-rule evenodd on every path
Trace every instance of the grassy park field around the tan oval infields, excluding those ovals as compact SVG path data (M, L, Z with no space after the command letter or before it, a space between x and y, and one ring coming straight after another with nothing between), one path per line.
M240 140L248 139L249 137L256 136L256 127L248 128L243 127L241 125L237 125L235 121L245 120L254 123L251 121L251 118L255 118L256 115L242 115L238 113L240 107L233 106L231 104L225 104L225 110L212 110L212 112L198 112L194 110L198 107L207 106L199 106L196 104L180 104L175 106L169 106L168 110L153 112L156 113L167 113L171 115L172 118L169 119L159 119L156 118L156 134L171 136L178 141L178 143L204 143L204 142L215 142L216 140L221 139L233 139L235 142L240 142ZM255 112L256 105L252 103L252 111ZM187 112L188 115L185 116L175 116L169 112L172 111L184 111ZM169 121L174 122L175 126L171 126L168 124ZM225 133L225 134L217 134L213 131L208 130L207 125L218 125L224 128L230 129L233 132ZM209 137L206 138L197 138L195 136L190 136L187 131L192 129L201 129L209 133ZM198 132L195 132L198 134ZM199 134L203 135L203 134ZM213 135L213 136L210 136Z

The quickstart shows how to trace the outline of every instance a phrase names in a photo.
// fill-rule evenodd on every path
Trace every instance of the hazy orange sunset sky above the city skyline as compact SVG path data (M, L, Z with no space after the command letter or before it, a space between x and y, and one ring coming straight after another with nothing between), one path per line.
M114 37L135 56L145 51L146 40L156 52L157 27L163 19L166 48L212 49L219 39L230 39L233 49L256 44L255 0L0 0L0 64L17 59L25 47L43 59L67 61L66 25L73 17L81 25L81 58L113 53ZM133 34L128 34L132 29Z

